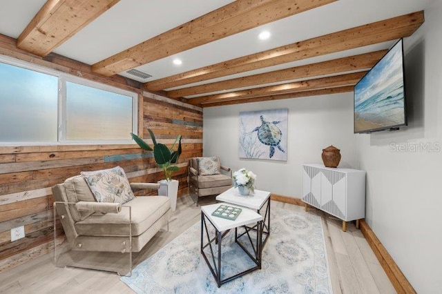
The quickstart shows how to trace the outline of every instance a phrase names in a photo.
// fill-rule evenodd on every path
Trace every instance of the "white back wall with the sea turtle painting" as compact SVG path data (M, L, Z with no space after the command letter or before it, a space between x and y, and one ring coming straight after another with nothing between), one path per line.
M289 109L287 161L240 159L239 113L279 108ZM260 190L301 197L301 164L322 163L322 149L332 144L340 148L339 166L356 164L352 93L204 108L204 156L218 155L233 170L252 170Z

